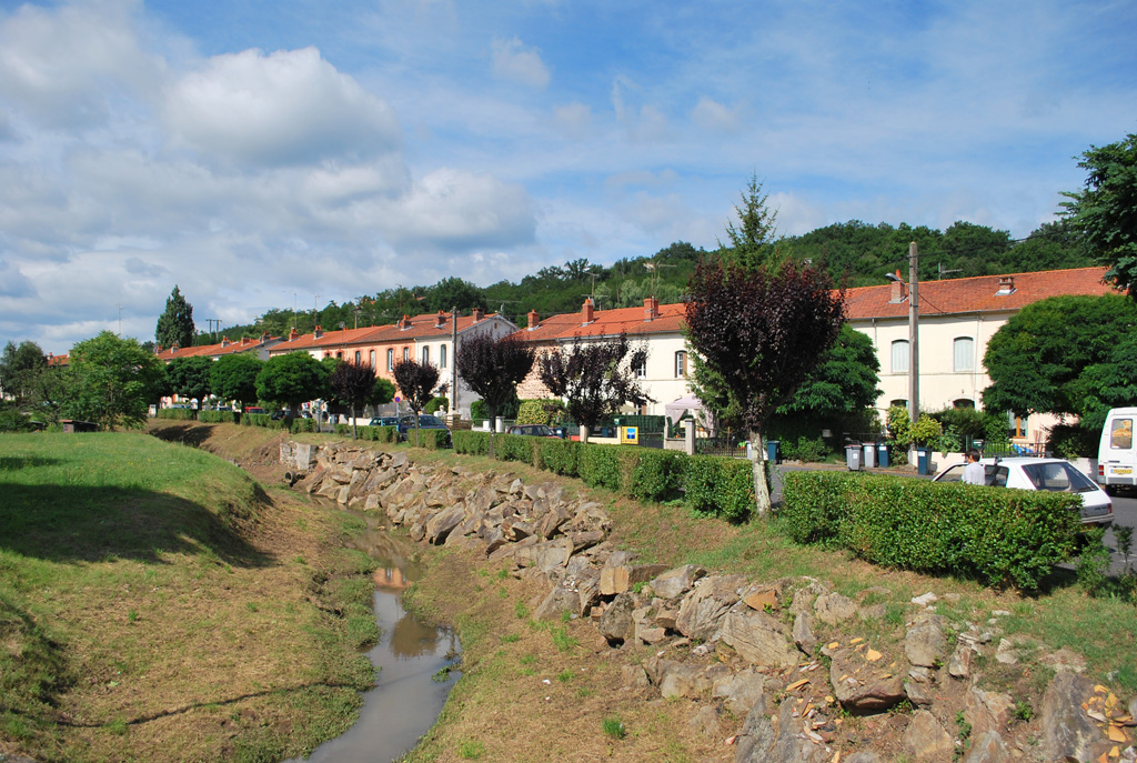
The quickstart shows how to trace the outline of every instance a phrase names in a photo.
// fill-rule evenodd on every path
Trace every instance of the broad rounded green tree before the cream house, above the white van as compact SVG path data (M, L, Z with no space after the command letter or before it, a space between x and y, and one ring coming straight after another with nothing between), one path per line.
M1137 326L1137 304L1120 295L1051 297L1022 308L987 343L990 385L984 408L1080 415L1087 395L1081 374L1111 363ZM1103 374L1104 370L1095 371Z

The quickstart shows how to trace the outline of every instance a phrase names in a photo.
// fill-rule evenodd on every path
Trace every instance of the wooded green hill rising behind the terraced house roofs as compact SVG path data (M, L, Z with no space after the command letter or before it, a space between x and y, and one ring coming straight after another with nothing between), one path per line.
M1061 219L1043 224L1022 240L1011 239L1007 231L965 222L938 231L924 225L870 225L854 219L782 238L770 246L782 256L824 263L837 284L863 287L883 283L885 273L897 269L906 277L911 241L920 247L921 281L1096 264L1088 247ZM447 277L433 285L397 287L360 296L343 305L332 301L323 309L296 313L294 317L291 309L271 309L252 325L198 334L197 343L219 341L222 335L258 337L266 331L282 335L293 325L301 333L310 332L315 324L329 331L340 325L383 325L404 315L449 312L451 307L466 314L474 307L500 312L524 325L529 310L537 310L542 318L571 313L580 309L586 295L592 295L600 309L642 305L644 298L653 293L661 304L677 302L699 258L716 251L678 241L654 255L625 257L607 267L587 259L542 267L517 283L499 281L481 288Z

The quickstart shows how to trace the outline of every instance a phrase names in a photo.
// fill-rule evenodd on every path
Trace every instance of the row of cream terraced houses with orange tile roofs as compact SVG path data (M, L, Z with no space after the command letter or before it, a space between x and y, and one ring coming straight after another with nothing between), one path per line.
M982 365L987 342L1001 326L1027 305L1063 295L1099 296L1111 292L1104 281L1105 269L1085 267L1037 273L1016 273L920 284L920 407L935 410L947 406L979 407L982 390L990 383ZM880 287L861 287L846 292L846 317L852 326L868 334L880 362L881 396L877 407L906 405L908 390L908 296L899 281ZM516 339L543 351L568 343L615 337L644 341L648 347L645 367L634 373L653 403L629 413L665 415L666 406L690 397L690 364L683 339L684 306L659 305L654 298L642 307L596 309L586 298L576 313L541 318L528 315L526 325L517 326L497 314L474 310L472 315L448 313L404 316L383 326L322 331L288 337L223 340L219 345L171 348L159 351L164 360L191 355L214 358L227 353L257 353L263 359L287 353L305 351L316 359L329 356L365 363L376 376L393 381L399 360L414 358L435 365L440 380L449 382L451 410L470 416L476 396L455 371L455 346L479 334ZM739 348L745 351L745 348ZM520 385L521 398L549 397L536 372ZM457 395L457 407L454 397ZM1037 441L1052 420L1031 416L1016 422L1019 434Z

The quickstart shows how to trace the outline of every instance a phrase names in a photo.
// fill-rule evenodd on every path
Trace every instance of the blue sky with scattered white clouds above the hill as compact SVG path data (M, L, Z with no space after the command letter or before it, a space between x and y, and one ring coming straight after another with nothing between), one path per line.
M711 248L752 173L787 234L1022 237L1137 132L1135 40L1131 0L0 0L0 342Z

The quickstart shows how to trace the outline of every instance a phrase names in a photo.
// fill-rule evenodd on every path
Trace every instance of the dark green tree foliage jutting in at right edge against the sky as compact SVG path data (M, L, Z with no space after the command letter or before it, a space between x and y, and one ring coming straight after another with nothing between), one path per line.
M1078 166L1088 172L1080 191L1062 202L1073 229L1106 263L1105 277L1137 299L1137 134L1090 146Z

